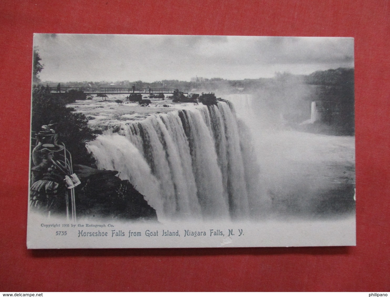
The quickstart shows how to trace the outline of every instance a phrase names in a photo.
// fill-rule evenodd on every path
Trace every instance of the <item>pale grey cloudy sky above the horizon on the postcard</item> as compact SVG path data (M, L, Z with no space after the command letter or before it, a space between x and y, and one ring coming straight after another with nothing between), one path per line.
M43 81L245 79L353 67L353 39L34 34Z

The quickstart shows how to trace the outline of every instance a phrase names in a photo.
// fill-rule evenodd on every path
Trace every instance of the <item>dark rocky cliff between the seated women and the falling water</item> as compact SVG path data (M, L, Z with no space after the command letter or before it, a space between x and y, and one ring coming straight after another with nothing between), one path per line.
M74 165L74 172L82 181L76 188L78 218L157 220L144 196L129 181L117 177L117 171Z

